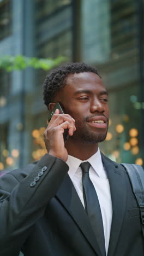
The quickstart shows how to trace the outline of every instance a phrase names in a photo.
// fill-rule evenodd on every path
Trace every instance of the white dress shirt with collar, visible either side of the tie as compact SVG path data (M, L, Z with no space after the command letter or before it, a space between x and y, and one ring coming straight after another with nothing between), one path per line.
M101 160L100 150L98 149L97 153L95 153L91 156L91 158L85 161L81 161L80 159L74 158L73 156L69 155L67 160L67 164L69 166L68 174L74 184L77 194L80 197L83 207L85 207L82 191L82 170L80 164L81 162L87 161L91 164L91 167L89 169L89 177L94 185L95 190L97 191L99 199L104 225L105 249L107 254L112 222L112 202L109 179L107 178L107 173Z

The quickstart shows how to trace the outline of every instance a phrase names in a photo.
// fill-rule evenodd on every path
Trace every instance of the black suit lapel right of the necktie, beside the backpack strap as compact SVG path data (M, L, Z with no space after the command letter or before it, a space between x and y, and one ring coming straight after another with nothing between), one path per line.
M118 237L122 228L127 198L127 184L125 182L124 172L121 165L112 162L104 155L102 155L102 160L108 173L112 199L113 215L109 250L107 254L107 256L112 256L115 253Z

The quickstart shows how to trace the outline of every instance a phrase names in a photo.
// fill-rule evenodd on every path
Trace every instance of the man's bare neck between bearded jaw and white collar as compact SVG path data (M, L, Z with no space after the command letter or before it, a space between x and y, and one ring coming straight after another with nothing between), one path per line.
M69 138L65 144L65 148L67 149L69 155L83 161L87 160L98 151L98 143L87 144L80 141L73 141Z

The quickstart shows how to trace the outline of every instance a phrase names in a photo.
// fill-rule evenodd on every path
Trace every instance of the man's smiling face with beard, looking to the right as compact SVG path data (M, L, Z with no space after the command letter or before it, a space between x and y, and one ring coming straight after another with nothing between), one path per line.
M70 74L55 100L75 119L70 139L87 144L104 141L109 125L107 92L101 78L92 72Z

